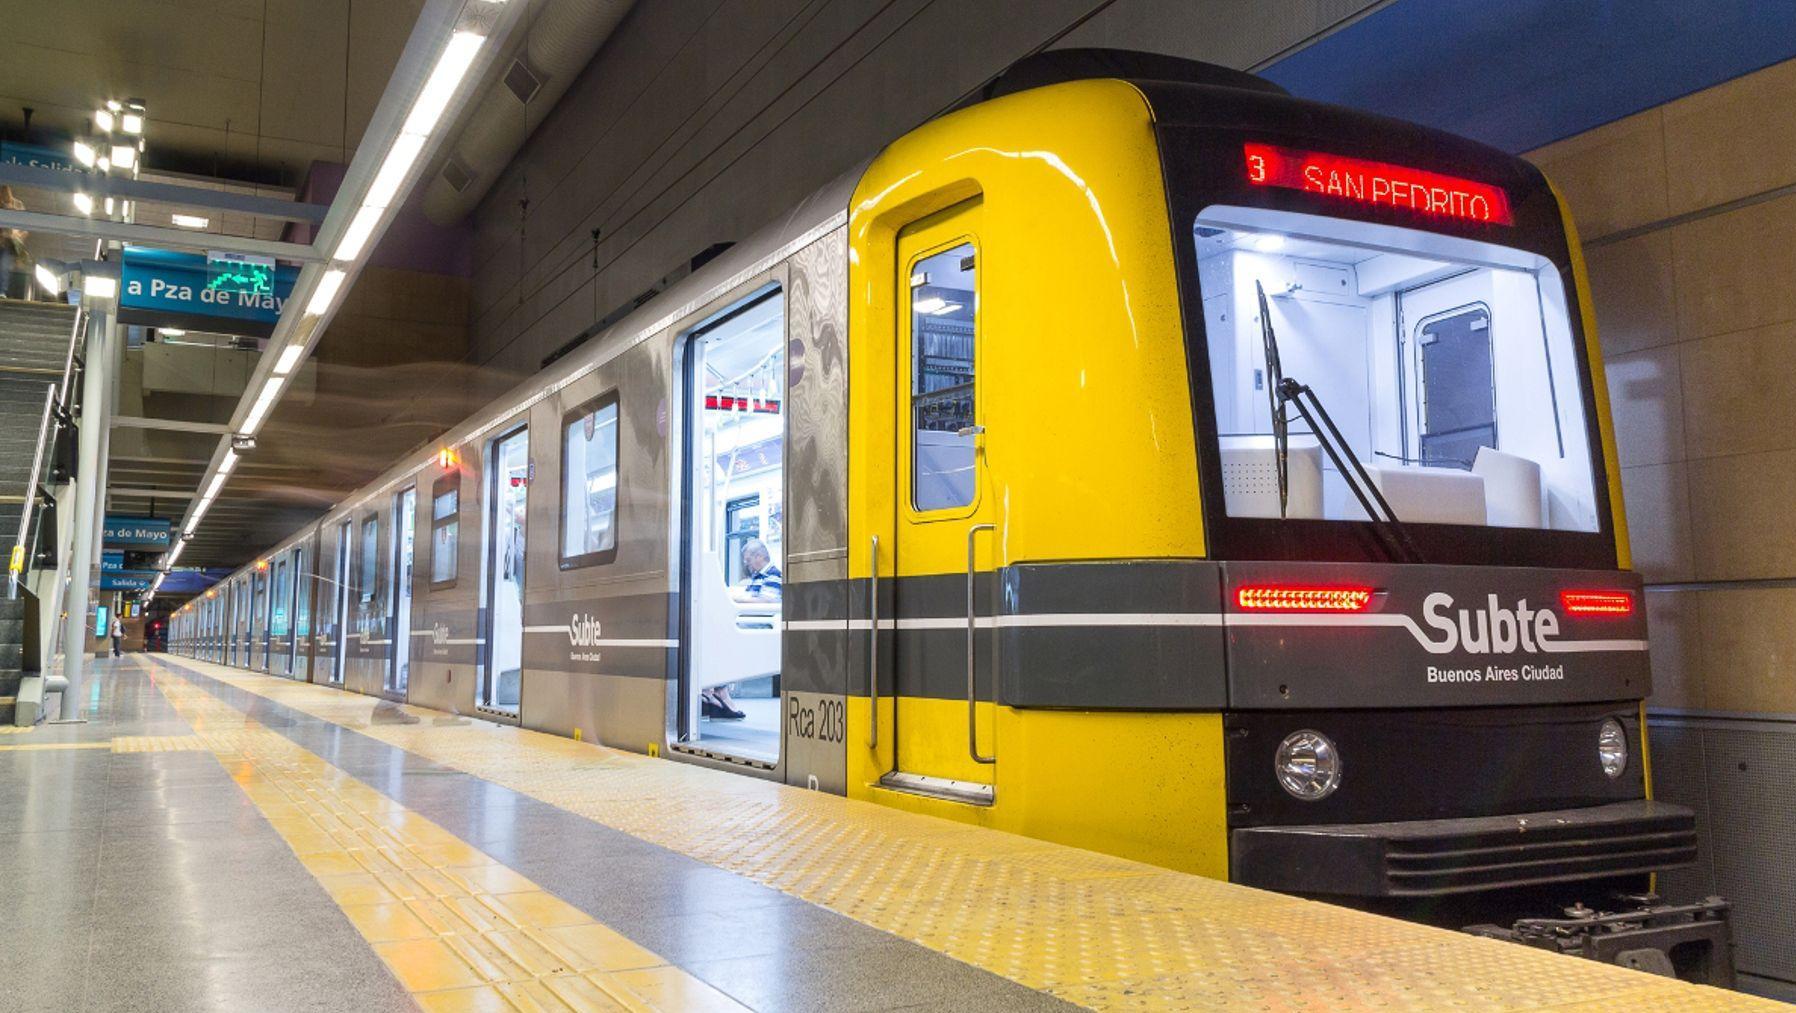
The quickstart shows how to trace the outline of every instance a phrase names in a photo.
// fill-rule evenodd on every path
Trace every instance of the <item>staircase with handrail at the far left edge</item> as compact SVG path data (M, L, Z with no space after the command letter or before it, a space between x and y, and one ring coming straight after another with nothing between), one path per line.
M45 390L63 379L74 325L72 305L0 298L0 559L18 541ZM25 616L23 600L5 600L0 577L0 724L13 724Z

